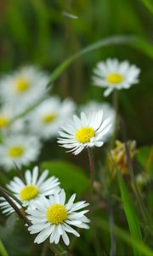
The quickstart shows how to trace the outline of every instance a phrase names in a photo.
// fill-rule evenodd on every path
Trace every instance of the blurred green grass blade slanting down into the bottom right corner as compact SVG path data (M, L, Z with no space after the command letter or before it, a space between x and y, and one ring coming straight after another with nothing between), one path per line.
M110 224L104 218L95 218L94 224L97 228L110 232ZM112 225L112 230L117 237L122 239L122 241L125 241L129 246L132 246L135 251L137 250L138 253L136 255L142 254L143 256L153 256L153 251L150 247L145 245L143 241L139 241L133 236L130 236L130 234L115 224Z

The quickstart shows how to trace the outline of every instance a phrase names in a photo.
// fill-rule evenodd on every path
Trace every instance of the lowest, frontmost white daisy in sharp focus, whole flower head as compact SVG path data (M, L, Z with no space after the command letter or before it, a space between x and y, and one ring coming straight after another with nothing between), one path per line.
M86 201L74 203L76 195L72 195L70 200L65 204L65 191L51 195L49 199L42 198L37 201L35 210L28 208L28 218L32 225L28 228L31 234L37 234L34 242L41 243L49 236L50 243L59 243L60 236L66 245L70 244L69 237L66 233L72 233L80 236L72 226L77 228L88 229L89 219L84 216L88 210L78 212L80 209L87 207Z

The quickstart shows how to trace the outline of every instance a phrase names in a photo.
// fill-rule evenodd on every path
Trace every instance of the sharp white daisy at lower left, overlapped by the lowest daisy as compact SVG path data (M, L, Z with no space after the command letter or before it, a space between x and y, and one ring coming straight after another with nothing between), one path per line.
M38 167L35 166L32 172L29 170L25 172L25 182L20 177L14 177L7 188L22 202L23 207L33 209L35 208L35 202L41 200L42 197L53 195L60 190L59 179L54 176L47 177L48 170L42 172L42 175L38 177ZM7 203L4 206L7 206ZM14 212L12 207L11 212Z

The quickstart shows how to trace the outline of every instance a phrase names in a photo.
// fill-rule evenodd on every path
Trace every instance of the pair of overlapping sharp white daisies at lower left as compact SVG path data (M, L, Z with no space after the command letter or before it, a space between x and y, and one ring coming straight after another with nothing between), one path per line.
M71 195L69 201L65 200L65 190L60 189L57 177L48 177L48 170L42 172L39 177L38 167L25 172L24 180L20 177L14 179L7 185L12 194L21 202L14 201L18 208L26 210L27 218L31 221L28 228L31 234L37 234L36 243L42 243L49 237L50 243L59 243L60 236L66 245L70 240L67 233L80 236L72 226L88 229L89 219L85 216L88 210L86 201L74 202L76 194ZM10 214L14 208L0 198L0 207L3 213ZM81 210L81 211L80 211Z

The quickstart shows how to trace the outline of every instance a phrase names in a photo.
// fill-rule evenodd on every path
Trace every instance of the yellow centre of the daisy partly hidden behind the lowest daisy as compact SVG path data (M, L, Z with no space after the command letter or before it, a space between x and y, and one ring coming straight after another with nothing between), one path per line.
M39 191L34 185L27 185L24 189L20 190L20 199L22 201L30 201L37 197Z

